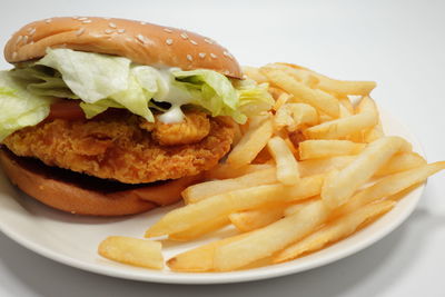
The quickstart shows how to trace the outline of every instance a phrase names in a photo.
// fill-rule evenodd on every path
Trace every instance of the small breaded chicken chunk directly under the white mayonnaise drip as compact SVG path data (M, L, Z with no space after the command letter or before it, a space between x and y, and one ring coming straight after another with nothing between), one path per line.
M204 112L187 112L184 121L165 123L148 122L141 118L140 128L151 131L154 140L161 146L189 145L201 141L210 132L210 120Z

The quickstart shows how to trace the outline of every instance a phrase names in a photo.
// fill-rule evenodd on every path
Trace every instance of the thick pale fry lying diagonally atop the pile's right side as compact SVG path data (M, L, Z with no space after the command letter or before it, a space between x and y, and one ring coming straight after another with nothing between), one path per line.
M345 204L393 155L406 149L411 150L411 145L399 137L384 137L369 143L353 162L326 178L323 200L330 208Z

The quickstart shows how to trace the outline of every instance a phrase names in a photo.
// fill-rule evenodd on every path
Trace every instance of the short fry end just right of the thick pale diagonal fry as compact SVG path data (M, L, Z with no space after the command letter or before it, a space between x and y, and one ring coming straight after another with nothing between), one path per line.
M399 152L393 156L374 176L382 177L426 165L426 160L416 152Z

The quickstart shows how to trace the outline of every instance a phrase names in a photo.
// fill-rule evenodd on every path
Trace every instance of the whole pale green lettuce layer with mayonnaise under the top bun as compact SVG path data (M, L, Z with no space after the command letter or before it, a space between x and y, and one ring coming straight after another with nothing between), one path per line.
M11 131L44 119L51 98L81 100L87 118L108 108L125 108L154 121L154 108L167 115L194 105L214 117L230 116L244 123L248 116L273 106L267 88L267 83L230 80L212 70L158 69L122 57L48 49L42 59L1 72L0 141ZM171 108L164 110L157 102L168 102Z

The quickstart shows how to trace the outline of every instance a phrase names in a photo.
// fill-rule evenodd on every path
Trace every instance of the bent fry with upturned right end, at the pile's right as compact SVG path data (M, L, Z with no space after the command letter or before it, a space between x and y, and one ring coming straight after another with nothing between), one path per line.
M373 128L378 122L378 113L373 99L365 97L360 101L360 106L357 115L313 126L306 129L305 135L310 139L343 139L364 129Z

